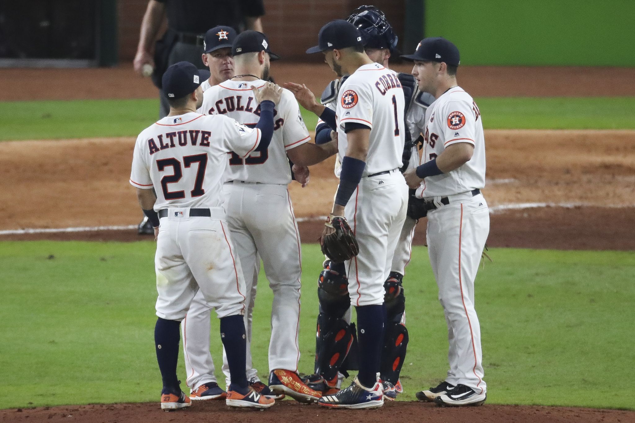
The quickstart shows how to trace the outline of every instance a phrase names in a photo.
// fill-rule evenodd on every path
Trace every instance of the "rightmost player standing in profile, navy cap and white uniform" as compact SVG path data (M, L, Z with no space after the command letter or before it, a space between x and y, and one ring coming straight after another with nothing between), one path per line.
M425 113L422 164L404 174L427 212L427 244L448 324L445 381L417 393L439 405L481 405L486 398L474 279L490 231L481 112L457 84L459 53L450 41L426 38L413 55L418 88L436 100Z

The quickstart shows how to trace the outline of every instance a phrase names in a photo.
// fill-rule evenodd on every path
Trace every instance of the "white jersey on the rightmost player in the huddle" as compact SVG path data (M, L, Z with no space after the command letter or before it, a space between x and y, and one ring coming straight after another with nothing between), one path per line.
M422 163L436 159L456 143L474 145L472 159L453 171L429 176L417 188L418 198L445 197L485 186L485 136L474 99L456 86L441 94L425 112Z

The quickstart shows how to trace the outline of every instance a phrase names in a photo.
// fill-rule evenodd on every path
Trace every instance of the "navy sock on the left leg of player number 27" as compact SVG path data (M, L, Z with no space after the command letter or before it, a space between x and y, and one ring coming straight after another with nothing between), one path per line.
M177 378L178 342L181 339L181 322L157 318L154 326L154 348L157 352L163 387L173 393L180 392Z

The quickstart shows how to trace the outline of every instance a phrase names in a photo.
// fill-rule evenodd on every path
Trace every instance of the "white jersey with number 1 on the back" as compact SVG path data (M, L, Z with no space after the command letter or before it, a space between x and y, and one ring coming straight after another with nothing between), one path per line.
M344 124L354 122L371 128L363 176L401 167L403 112L403 89L397 72L379 63L359 67L344 81L338 94L338 159L344 158L348 146Z

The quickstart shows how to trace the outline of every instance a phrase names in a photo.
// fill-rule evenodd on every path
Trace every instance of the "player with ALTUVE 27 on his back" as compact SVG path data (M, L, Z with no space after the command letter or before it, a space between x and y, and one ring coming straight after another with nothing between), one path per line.
M165 72L163 92L170 114L139 134L130 175L157 235L154 339L163 379L161 408L191 405L179 386L177 360L180 321L197 290L220 318L232 374L227 405L267 408L274 400L253 391L245 375L246 287L226 228L221 190L227 153L246 157L267 151L281 89L274 84L266 84L261 92L253 89L260 119L251 129L225 116L196 113L203 100L203 77L189 62L175 63Z

